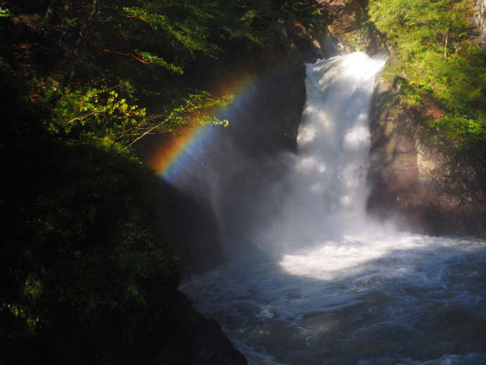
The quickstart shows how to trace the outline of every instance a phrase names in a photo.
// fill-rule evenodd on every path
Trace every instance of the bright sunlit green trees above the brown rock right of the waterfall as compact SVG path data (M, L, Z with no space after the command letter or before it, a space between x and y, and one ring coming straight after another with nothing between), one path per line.
M429 134L486 163L486 53L474 42L472 2L371 0L369 13L392 49L385 75L406 104L430 95L444 110Z

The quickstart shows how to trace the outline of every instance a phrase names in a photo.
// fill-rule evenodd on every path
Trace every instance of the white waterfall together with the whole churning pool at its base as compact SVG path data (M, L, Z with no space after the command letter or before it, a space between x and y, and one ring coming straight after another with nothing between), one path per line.
M250 364L486 364L485 242L366 217L382 64L356 53L307 66L298 154L252 202L258 249L180 287Z

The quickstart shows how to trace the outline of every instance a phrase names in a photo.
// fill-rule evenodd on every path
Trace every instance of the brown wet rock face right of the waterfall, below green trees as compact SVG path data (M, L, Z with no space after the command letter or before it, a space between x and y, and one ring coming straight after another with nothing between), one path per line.
M443 113L433 99L420 109L400 99L399 87L380 78L371 114L368 209L420 233L483 233L485 174L438 142L425 143L425 118Z

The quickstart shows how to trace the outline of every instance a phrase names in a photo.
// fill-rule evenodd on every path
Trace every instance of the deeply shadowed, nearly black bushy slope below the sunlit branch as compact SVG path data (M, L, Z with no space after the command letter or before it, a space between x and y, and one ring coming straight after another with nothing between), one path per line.
M23 90L8 86L0 360L134 361L137 339L175 305L178 258L157 225L158 180L113 144L52 140Z

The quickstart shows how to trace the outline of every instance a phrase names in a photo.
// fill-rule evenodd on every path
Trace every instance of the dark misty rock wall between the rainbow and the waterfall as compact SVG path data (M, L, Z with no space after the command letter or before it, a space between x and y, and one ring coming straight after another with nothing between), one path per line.
M205 69L216 68L206 65ZM251 82L224 111L230 120L228 127L213 128L211 141L189 158L177 181L161 182L166 199L160 207L160 221L180 253L183 276L230 259L228 246L245 236L240 232L241 221L249 224L258 216L248 202L275 178L275 156L297 148L305 101L304 63L297 54L278 49L271 55L256 54L247 62L237 61L220 74L203 73L208 78L203 81L225 85L235 75L248 74ZM167 137L173 136L148 140L147 154L159 144L163 147L161 138ZM218 224L222 215L226 223L234 223Z

